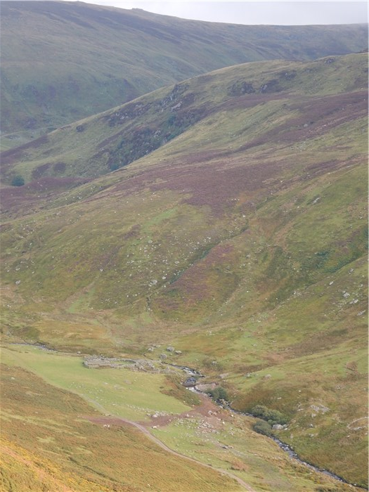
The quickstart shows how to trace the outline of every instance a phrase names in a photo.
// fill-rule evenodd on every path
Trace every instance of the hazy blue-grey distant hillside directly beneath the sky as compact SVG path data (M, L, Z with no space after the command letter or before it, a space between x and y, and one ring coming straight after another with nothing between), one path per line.
M2 148L217 68L365 48L365 25L230 25L74 1L1 1Z

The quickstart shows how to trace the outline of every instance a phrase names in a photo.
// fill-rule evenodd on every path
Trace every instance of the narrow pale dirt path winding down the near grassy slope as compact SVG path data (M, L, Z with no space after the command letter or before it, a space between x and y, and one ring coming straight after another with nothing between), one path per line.
M195 410L191 410L190 412L188 412L188 415L190 415L191 412L195 412ZM176 415L176 417L179 418L180 415ZM247 484L245 481L240 479L240 477L237 477L233 473L228 472L227 470L222 470L221 468L212 467L212 465L207 465L206 463L202 463L201 461L195 460L195 458L190 458L189 456L186 456L186 455L183 455L181 453L178 453L177 451L174 451L173 449L169 448L166 444L164 444L162 441L160 441L160 439L157 439L157 437L153 436L153 434L151 434L150 431L148 431L148 429L146 427L144 427L144 425L139 424L138 422L132 422L131 420L127 420L123 417L103 417L103 416L87 417L87 416L84 416L84 418L86 420L89 420L90 422L95 423L95 424L103 424L103 425L128 424L128 425L133 425L134 427L136 427L136 429L143 432L143 434L145 434L145 436L148 436L148 438L151 439L151 441L154 441L155 444L157 444L157 446L160 446L160 448L164 449L164 451L167 451L168 453L171 453L172 455L178 456L179 458L185 458L186 460L192 461L192 462L196 463L197 465L201 465L203 467L210 468L211 470L215 470L216 472L219 472L222 475L227 475L231 479L237 481L238 484L240 484L240 486L245 488L245 490L247 490L249 492L256 492L254 490L254 488L252 488L249 484ZM155 422L156 421L157 421L157 419L155 419ZM156 422L156 423L158 423L158 422ZM145 425L148 425L148 424L145 424ZM162 423L162 425L165 425L165 424Z

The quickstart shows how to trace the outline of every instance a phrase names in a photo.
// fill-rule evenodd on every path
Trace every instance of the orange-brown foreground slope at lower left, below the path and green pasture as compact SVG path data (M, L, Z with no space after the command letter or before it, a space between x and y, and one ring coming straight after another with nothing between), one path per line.
M27 370L2 365L1 375L1 490L242 490L216 470L164 451L130 425L94 424L86 417L96 411L80 396Z

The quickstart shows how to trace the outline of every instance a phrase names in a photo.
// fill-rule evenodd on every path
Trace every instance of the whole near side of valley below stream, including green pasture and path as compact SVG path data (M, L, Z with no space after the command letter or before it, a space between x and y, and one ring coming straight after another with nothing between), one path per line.
M38 490L41 480L52 490L63 491L67 486L76 492L174 487L186 492L352 490L323 474L306 471L273 441L253 432L250 417L230 414L206 398L189 408L166 396L163 391L170 383L164 375L86 369L82 356L25 345L4 349L2 361L6 363L2 372L2 484L11 484L13 490L24 491L27 486ZM192 395L183 388L181 395L186 393ZM45 401L42 409L40 397ZM164 400L165 411L160 410ZM171 450L198 463L162 451L122 417L141 422L141 431L150 431ZM143 453L135 466L140 448ZM217 469L223 470L222 475ZM250 485L242 488L235 478Z

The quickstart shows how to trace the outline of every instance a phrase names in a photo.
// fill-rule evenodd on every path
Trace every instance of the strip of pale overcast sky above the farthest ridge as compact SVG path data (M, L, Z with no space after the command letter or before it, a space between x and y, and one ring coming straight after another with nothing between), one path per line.
M368 22L367 1L139 1L89 0L88 4L235 24L350 24Z

